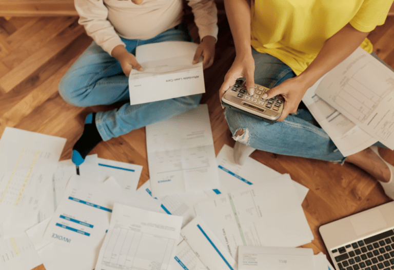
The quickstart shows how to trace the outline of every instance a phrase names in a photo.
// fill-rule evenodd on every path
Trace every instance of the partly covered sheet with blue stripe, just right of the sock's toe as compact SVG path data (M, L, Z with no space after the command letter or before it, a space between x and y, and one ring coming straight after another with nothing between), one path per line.
M99 158L99 168L102 181L112 176L122 187L123 193L135 193L142 172L141 165Z

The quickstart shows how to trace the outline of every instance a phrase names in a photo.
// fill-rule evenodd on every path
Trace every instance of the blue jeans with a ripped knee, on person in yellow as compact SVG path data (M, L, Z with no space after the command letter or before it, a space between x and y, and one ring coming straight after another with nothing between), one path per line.
M252 55L255 64L254 81L256 84L273 88L286 79L295 77L294 72L278 58L253 49ZM377 57L376 54L373 56ZM283 122L275 122L274 124L228 108L226 108L225 117L234 138L235 133L243 129L245 133L237 140L252 148L275 154L338 163L343 163L345 160L345 157L308 110L299 109L297 113L288 115ZM375 145L384 147L379 142Z

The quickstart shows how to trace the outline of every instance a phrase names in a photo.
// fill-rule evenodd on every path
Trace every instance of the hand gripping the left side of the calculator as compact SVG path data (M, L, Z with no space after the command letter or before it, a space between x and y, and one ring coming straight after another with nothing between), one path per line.
M235 56L231 68L224 76L224 82L219 89L219 98L222 103L222 96L226 90L235 84L238 78L246 79L246 89L250 95L254 93L254 59L250 53ZM222 106L223 107L223 106Z

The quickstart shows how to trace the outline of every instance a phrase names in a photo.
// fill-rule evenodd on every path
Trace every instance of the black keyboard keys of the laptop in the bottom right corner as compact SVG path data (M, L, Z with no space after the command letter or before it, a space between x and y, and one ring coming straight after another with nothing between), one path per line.
M339 270L394 269L394 231L389 230L331 252Z

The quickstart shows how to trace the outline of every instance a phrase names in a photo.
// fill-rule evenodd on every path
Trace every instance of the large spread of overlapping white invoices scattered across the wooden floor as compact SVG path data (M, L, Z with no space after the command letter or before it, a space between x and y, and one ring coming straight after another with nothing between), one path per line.
M11 128L0 140L2 270L235 270L239 246L313 239L308 189L235 164L229 146L215 157L206 105L147 127L151 179L138 191L140 165L89 155L76 170L58 161L64 144Z

